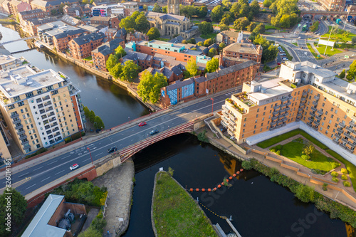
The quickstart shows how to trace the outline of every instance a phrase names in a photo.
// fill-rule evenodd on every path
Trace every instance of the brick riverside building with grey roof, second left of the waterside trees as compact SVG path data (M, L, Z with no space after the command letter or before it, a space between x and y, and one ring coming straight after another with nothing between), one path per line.
M91 51L101 46L105 41L105 34L102 32L73 38L69 41L70 56L76 59L91 56Z

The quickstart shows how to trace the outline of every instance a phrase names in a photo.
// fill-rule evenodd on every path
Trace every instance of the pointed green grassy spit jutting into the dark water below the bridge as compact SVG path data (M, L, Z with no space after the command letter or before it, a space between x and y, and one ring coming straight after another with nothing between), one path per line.
M216 236L204 212L166 172L159 172L153 201L157 236Z

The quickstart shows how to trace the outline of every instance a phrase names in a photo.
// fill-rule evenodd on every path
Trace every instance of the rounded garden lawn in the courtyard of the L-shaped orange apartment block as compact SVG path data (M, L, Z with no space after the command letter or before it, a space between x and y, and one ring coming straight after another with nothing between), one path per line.
M303 139L303 141L305 142L305 139ZM303 141L299 142L297 139L295 139L292 142L284 144L281 149L281 155L309 169L320 169L325 172L329 172L331 169L335 169L336 167L340 166L340 163L335 162L335 160L330 157L325 157L324 154L321 154L316 149L314 149L313 154L310 155L310 160L303 159L305 156L302 153L304 147ZM271 149L273 148L274 147Z

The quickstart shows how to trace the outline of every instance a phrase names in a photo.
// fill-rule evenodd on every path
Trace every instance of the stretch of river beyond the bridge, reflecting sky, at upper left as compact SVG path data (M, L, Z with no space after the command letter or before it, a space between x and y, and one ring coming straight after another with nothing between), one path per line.
M0 32L3 36L0 42L20 38L17 31L1 25ZM10 52L28 49L25 41L5 44L4 47ZM31 62L31 65L35 65L37 68L51 68L56 72L61 71L68 75L73 85L81 90L80 95L83 105L88 106L90 110L95 112L95 115L100 116L106 128L115 127L149 113L145 105L142 105L139 100L127 93L124 88L88 73L78 65L67 63L66 60L58 58L53 53L39 51L35 48L31 51L14 53L13 56L23 56Z

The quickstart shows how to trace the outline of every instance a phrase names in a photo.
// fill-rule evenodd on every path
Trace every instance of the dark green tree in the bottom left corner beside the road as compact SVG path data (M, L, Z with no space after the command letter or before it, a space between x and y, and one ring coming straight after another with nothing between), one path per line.
M11 211L8 209L9 196L11 196ZM23 221L23 217L27 208L27 201L19 191L12 188L6 188L4 194L0 195L0 215L1 215L1 227L0 236L9 236L12 231L6 231L6 228L14 227L14 223L20 224ZM8 217L8 214L11 216ZM10 218L9 221L6 218ZM6 223L10 223L7 226Z

